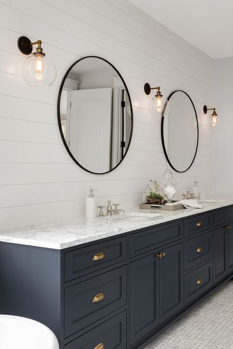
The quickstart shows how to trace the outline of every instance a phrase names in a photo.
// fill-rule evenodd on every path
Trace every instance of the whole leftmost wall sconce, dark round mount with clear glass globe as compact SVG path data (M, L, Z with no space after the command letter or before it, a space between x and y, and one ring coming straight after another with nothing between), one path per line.
M22 65L22 76L31 87L48 87L56 79L56 67L45 57L41 43L41 40L31 42L26 36L18 38L18 49L23 54L31 55L33 45L38 45L36 52L26 58Z

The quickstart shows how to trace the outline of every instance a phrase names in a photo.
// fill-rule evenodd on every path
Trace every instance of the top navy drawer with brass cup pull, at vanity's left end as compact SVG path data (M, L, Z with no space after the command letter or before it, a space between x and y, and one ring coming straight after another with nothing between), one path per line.
M126 259L126 236L65 253L65 282Z

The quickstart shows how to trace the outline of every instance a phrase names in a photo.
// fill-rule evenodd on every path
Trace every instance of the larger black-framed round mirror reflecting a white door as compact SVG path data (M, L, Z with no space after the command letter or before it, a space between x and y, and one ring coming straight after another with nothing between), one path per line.
M125 157L133 131L127 86L105 59L84 57L62 81L58 124L72 159L88 172L112 171Z

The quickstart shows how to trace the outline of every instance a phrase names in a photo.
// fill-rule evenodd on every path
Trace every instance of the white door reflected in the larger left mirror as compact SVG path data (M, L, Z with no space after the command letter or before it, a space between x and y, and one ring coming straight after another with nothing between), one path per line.
M89 171L110 170L112 88L71 91L69 149Z

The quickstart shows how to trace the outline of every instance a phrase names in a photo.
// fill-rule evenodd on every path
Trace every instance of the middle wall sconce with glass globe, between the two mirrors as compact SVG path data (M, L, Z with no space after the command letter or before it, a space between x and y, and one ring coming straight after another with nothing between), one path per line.
M156 95L152 98L152 106L155 111L155 116L166 116L170 110L170 104L168 100L161 95L160 86L150 87L149 83L145 83L144 91L146 95L150 95L151 90L157 90Z

